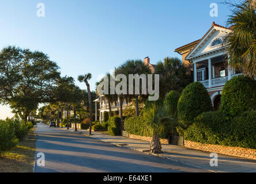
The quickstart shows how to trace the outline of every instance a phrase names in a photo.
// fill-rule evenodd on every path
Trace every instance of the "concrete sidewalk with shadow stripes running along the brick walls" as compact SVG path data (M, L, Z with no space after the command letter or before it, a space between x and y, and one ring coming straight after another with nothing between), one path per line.
M65 130L67 133L75 133L74 129ZM89 131L78 130L76 133L82 133L89 136ZM132 150L148 152L149 142L138 139L130 139L122 136L110 136L101 132L92 132L89 136L97 140L115 144L119 147L125 147ZM162 158L170 159L175 162L189 164L198 168L203 168L212 172L232 172L232 173L256 173L256 161L237 158L234 156L218 154L218 166L210 166L210 152L191 150L178 145L163 144L163 154L155 154Z

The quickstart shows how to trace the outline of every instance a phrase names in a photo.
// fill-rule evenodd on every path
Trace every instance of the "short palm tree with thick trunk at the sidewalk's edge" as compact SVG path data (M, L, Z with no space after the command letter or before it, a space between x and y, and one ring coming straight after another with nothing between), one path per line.
M150 104L149 108L143 113L145 126L152 131L152 140L150 141L150 154L160 154L161 142L160 135L166 131L171 133L176 130L176 120L168 114L166 105L158 105L156 102Z

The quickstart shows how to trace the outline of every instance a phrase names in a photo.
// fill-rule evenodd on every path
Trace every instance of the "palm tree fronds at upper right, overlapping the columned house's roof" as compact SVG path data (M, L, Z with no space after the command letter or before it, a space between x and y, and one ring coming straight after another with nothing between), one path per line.
M224 41L227 45L228 65L233 70L239 70L250 78L256 77L256 11L255 2L244 0L235 4L226 2L232 9L232 15L227 20L231 26Z

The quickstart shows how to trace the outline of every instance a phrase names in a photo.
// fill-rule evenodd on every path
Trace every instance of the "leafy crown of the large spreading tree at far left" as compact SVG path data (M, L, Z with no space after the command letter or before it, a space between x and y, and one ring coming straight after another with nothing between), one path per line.
M27 120L40 102L48 102L49 91L59 78L58 65L39 51L5 47L0 52L0 96L13 113Z

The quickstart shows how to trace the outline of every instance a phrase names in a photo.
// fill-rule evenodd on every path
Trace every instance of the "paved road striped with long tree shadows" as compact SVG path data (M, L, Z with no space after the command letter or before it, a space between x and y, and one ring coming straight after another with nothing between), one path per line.
M45 167L35 166L35 172L39 173L206 172L44 124L37 124L36 134L36 154L43 152L45 155Z

